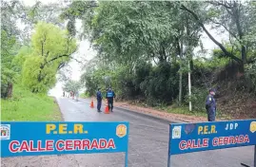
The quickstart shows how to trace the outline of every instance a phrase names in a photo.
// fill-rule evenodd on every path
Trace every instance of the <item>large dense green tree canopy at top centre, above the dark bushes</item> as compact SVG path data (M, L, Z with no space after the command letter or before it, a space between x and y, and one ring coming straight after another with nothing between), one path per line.
M177 29L175 9L167 2L101 2L92 19L91 41L110 61L138 57L167 60Z

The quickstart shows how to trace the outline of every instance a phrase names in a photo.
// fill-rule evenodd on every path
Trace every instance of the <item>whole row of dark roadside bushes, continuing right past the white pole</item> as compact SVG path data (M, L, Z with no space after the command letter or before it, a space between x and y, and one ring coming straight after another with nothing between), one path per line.
M226 64L226 59L223 65ZM131 66L131 65L129 65ZM193 110L205 111L208 88L213 84L212 71L217 66L212 61L194 60L191 73ZM107 88L111 85L118 99L140 100L151 106L171 104L179 95L179 64L163 62L152 66L139 62L131 70L128 65L116 66L115 70L101 68L84 74L89 95L95 95L97 87ZM108 82L104 78L108 76ZM188 104L187 73L183 74L183 100ZM106 91L103 89L103 93Z

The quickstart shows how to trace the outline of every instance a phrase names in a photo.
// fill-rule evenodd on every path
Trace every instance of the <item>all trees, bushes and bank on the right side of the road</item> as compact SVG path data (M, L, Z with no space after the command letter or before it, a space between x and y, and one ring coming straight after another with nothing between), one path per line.
M218 116L256 118L255 2L72 2L97 57L81 83L90 96L111 86L118 101L205 115L209 88ZM71 30L70 28L69 30ZM218 41L214 33L226 36ZM202 34L215 44L207 50Z

